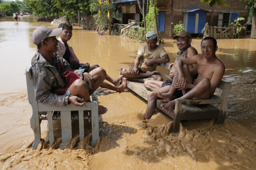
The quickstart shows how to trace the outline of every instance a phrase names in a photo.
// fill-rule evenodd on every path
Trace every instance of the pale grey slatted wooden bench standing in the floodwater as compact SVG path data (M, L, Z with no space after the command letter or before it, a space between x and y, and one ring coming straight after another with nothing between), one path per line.
M48 120L48 131L49 131L49 140L50 143L54 140L54 128L53 128L53 111L60 111L60 121L61 121L61 133L62 133L62 145L67 144L68 140L72 137L72 127L71 119L74 116L71 116L71 111L78 111L79 119L79 134L80 140L84 136L84 119L90 117L84 117L84 111L91 111L91 123L92 123L92 144L96 146L98 137L99 137L99 119L98 119L98 102L97 101L87 101L86 106L79 107L75 106L72 103L67 106L57 107L52 105L44 105L43 103L37 102L34 85L32 81L32 70L31 66L26 68L26 81L27 81L27 90L28 90L28 102L32 106L32 117L30 118L30 127L34 131L34 143L32 144L32 149L36 149L41 140L41 128L40 123L42 120ZM47 112L46 117L39 116L39 112Z

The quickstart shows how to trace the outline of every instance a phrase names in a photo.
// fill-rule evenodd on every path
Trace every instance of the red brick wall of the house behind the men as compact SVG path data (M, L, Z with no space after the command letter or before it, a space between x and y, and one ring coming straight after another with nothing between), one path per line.
M164 36L170 35L170 0L157 0L158 4L157 7L159 11L165 11L166 17L165 17L165 32L161 32ZM214 5L214 17L213 17L213 25L217 26L218 24L218 14L220 13L239 13L239 16L242 16L244 18L247 18L248 16L248 9L245 9L246 2L240 1L240 0L226 0L228 2L229 6L221 6L218 4ZM185 10L191 10L191 9L202 9L202 10L208 10L209 13L207 13L206 16L206 22L209 24L211 23L211 11L212 8L210 8L209 5L206 5L200 0L174 0L174 17L173 22L174 25L178 24L180 21L183 22L183 11Z

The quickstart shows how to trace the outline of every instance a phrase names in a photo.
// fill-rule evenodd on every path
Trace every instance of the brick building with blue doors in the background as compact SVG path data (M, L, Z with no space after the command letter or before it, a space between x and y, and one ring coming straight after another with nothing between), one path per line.
M212 8L200 0L157 0L158 30L161 35L172 37L173 26L182 21L186 30L192 34L198 34L206 22L209 25L212 22L213 26L227 26L238 16L248 18L246 2L243 0L226 0L226 2L229 4L228 7L214 5L211 21ZM112 3L122 7L122 24L128 24L128 19L136 20L138 25L142 21L137 0L112 0ZM140 4L142 5L142 0Z

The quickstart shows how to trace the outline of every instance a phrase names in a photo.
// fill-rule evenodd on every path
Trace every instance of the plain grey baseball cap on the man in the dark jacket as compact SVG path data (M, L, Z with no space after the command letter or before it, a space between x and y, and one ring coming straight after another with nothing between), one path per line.
M47 37L58 36L61 34L61 32L62 28L56 28L52 30L47 26L40 26L33 31L31 40L34 44L38 45Z

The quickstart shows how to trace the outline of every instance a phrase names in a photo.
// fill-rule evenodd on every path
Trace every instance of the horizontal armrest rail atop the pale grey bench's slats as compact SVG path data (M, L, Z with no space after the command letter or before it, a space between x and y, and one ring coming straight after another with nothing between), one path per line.
M33 87L34 88L34 87ZM52 106L52 105L44 105L43 103L38 103L38 111L80 111L80 110L85 110L85 111L90 111L91 110L91 102L86 102L86 107L80 107L80 106L75 106L72 103L67 106Z

